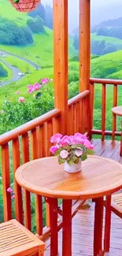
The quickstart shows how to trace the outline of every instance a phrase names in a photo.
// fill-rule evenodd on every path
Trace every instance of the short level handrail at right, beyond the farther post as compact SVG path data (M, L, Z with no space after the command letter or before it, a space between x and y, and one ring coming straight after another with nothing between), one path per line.
M92 83L104 83L104 84L114 84L114 85L122 85L122 80L111 80L111 79L101 79L101 78L90 78L90 82Z

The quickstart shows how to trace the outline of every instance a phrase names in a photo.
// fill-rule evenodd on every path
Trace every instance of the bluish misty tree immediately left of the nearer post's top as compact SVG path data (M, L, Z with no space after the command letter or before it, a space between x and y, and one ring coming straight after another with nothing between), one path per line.
M53 29L53 9L51 6L46 5L45 8L45 21L46 27Z

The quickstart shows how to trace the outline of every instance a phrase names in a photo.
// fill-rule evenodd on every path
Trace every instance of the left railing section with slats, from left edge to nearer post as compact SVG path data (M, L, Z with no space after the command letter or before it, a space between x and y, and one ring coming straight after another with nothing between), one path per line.
M12 199L7 189L14 183L16 218L31 230L31 195L28 191L21 191L14 180L14 173L21 164L31 159L50 156L50 136L58 132L60 115L60 110L54 109L13 131L0 135L4 221L13 217ZM36 232L42 234L43 213L40 196L36 196L35 211Z

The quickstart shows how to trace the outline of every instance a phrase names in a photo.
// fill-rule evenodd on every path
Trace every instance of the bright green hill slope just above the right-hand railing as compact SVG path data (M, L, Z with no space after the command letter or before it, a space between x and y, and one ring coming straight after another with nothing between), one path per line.
M92 59L91 76L122 79L122 50Z

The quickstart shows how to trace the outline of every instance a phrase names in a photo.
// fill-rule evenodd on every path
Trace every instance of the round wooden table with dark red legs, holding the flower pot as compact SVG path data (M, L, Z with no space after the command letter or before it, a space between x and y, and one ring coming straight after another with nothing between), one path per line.
M72 200L94 198L94 256L102 250L103 197L122 187L122 165L116 161L89 156L80 173L66 173L57 158L41 158L21 165L17 183L50 202L51 256L57 255L57 198L63 199L62 255L72 255Z

